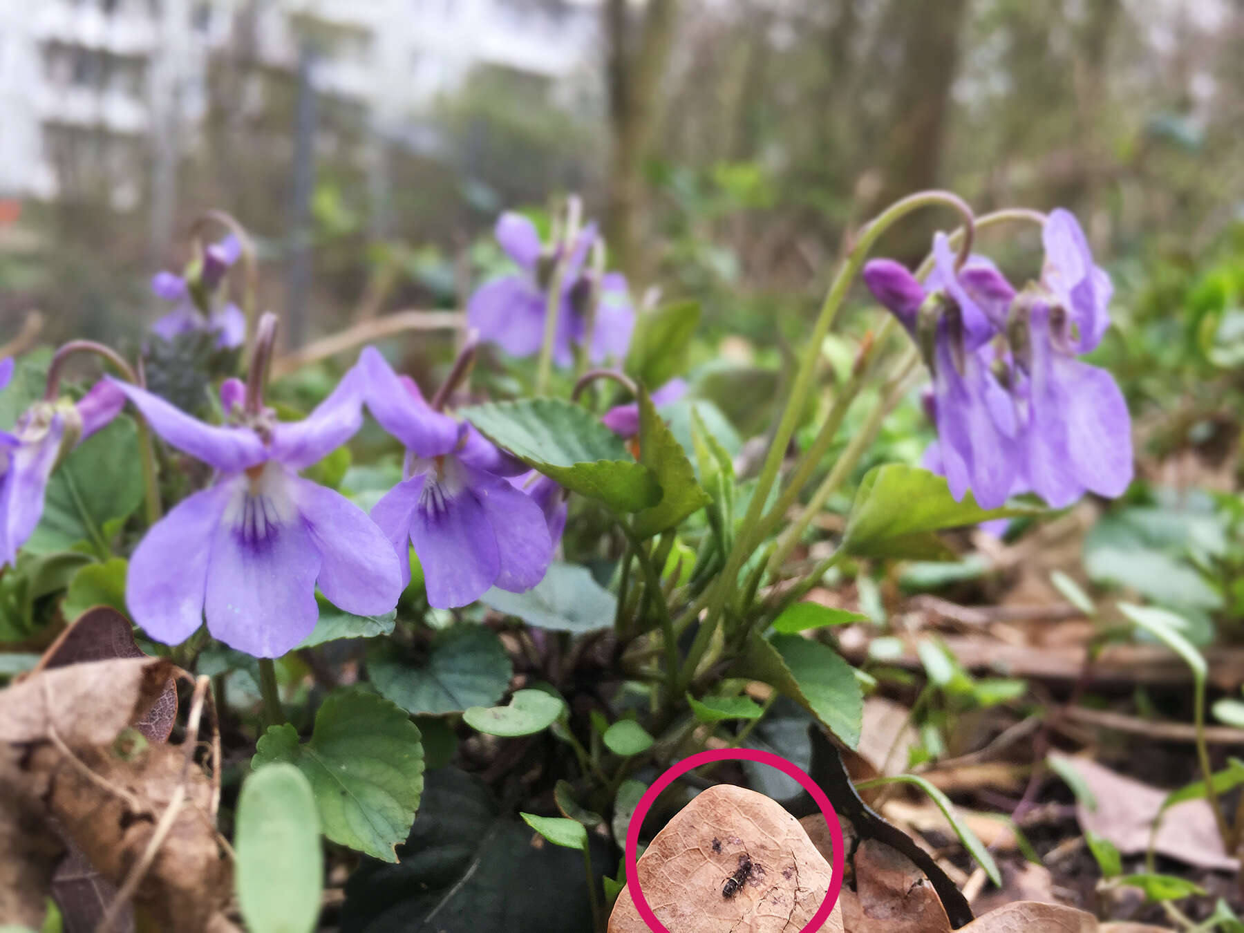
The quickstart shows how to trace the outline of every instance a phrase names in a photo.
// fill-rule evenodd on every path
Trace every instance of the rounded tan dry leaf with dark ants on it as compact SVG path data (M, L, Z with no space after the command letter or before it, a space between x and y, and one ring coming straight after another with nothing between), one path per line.
M738 889L726 882L746 862ZM639 884L671 933L799 933L829 891L831 871L799 821L753 790L717 785L657 833L638 862ZM821 927L842 933L835 908ZM618 894L608 933L648 933L631 893Z

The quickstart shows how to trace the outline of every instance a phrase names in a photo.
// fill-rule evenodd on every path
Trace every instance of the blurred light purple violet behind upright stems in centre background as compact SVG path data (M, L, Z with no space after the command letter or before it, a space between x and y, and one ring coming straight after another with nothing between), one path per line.
M547 294L560 255L545 249L535 224L520 214L505 213L496 221L496 240L518 265L518 271L481 285L466 305L466 317L480 336L510 356L531 356L544 341ZM566 258L562 295L554 333L552 357L559 366L573 362L575 347L587 341L587 302L593 291L592 272L585 271L587 254L596 243L596 225L580 231ZM626 355L634 328L634 309L626 277L607 272L600 281L600 302L588 356L592 362Z

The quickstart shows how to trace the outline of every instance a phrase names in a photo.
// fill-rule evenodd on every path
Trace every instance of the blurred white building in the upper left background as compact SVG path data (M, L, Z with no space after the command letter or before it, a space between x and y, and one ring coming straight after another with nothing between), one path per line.
M556 91L591 66L601 2L0 0L0 198L56 198L82 183L66 175L85 152L117 208L147 179L159 200L204 114L209 57L239 26L274 68L296 70L311 41L316 90L401 133L478 65Z

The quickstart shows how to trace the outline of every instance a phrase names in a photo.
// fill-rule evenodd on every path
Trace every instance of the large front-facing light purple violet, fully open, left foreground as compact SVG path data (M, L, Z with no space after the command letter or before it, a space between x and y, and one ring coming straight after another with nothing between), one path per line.
M185 641L205 616L225 644L279 657L315 628L317 585L358 616L397 605L401 573L383 532L345 496L299 476L358 430L355 377L302 420L277 422L265 411L233 425L205 424L117 384L164 440L216 469L211 485L156 522L129 560L127 602L152 638ZM236 379L221 388L235 415L241 394Z

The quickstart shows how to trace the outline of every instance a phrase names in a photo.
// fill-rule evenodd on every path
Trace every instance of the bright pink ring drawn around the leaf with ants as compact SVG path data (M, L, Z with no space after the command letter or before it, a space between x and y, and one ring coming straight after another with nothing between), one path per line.
M657 914L652 912L652 907L648 906L648 899L643 896L643 889L639 887L639 872L636 867L638 861L639 851L639 827L643 826L643 817L648 815L652 805L657 802L657 797L661 792L673 784L678 778L690 771L693 768L699 768L700 765L707 765L713 761L759 761L763 765L770 765L776 768L785 775L794 778L799 781L799 785L812 795L812 800L816 805L821 807L821 815L825 817L825 825L830 830L830 840L833 842L833 863L830 866L832 875L830 876L830 889L825 893L825 899L821 906L816 908L816 913L812 914L812 919L807 922L807 926L800 931L800 933L817 933L825 921L829 919L830 912L833 906L838 902L838 894L842 892L842 875L846 870L846 853L843 851L842 843L842 824L838 822L838 815L833 811L833 805L830 799L825 796L825 791L821 790L820 785L814 781L804 769L796 765L790 759L785 759L781 755L775 755L773 751L760 751L759 749L710 749L708 751L700 751L690 758L684 758L678 764L673 765L668 771L666 771L661 778L658 778L644 795L639 797L639 805L634 809L634 814L631 816L631 824L627 826L626 831L626 887L631 892L631 899L634 901L634 908L639 912L639 917L643 922L653 931L653 933L671 933L669 928L664 923L657 919Z

